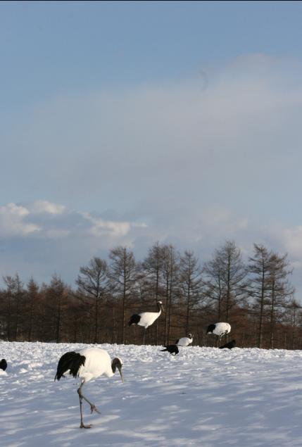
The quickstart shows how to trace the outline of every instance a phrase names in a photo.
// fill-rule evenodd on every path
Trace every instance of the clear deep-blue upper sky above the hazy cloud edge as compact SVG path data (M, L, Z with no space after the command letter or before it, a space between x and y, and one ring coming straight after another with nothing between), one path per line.
M1 110L182 80L242 54L301 57L301 2L1 2Z

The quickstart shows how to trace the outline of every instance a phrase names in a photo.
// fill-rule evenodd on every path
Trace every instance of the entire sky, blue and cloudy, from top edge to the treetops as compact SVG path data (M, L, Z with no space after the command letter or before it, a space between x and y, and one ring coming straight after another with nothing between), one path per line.
M289 253L302 287L302 2L0 4L0 269L118 244Z

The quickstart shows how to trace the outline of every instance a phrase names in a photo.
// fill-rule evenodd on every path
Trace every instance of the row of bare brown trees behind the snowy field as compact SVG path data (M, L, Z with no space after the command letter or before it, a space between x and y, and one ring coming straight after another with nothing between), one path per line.
M130 248L113 248L108 261L80 267L75 286L54 274L49 284L24 284L6 275L0 289L0 338L88 344L141 344L144 329L128 326L133 313L165 312L147 329L146 343L171 344L191 332L194 344L213 346L206 327L229 322L237 346L302 348L301 306L290 282L287 254L254 244L244 262L225 241L204 263L193 251L153 244L142 261Z

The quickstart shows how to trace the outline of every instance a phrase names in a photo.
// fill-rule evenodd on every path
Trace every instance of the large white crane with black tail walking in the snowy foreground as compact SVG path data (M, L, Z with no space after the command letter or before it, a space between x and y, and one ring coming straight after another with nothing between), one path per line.
M99 413L99 410L96 408L96 405L91 403L82 393L82 387L89 380L97 379L102 374L105 374L107 377L112 377L115 373L116 368L118 368L120 372L120 377L122 382L124 383L124 378L122 374L122 360L120 358L115 357L111 361L111 358L107 351L99 348L84 348L81 351L75 352L67 352L62 355L60 360L58 360L58 367L56 371L55 380L60 380L61 377L65 377L64 374L69 372L73 377L80 377L81 384L80 388L77 389L77 394L80 398L80 413L81 413L81 429L89 429L92 425L84 425L83 415L82 415L82 400L86 401L90 405L91 413L96 411Z

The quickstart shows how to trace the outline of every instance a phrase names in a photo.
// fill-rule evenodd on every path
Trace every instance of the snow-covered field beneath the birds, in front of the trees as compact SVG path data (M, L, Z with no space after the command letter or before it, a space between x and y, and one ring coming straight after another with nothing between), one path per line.
M93 427L80 429L78 380L54 375L84 346L0 343L1 446L302 446L302 351L100 345L122 358L125 384L89 382L101 415L84 403Z

